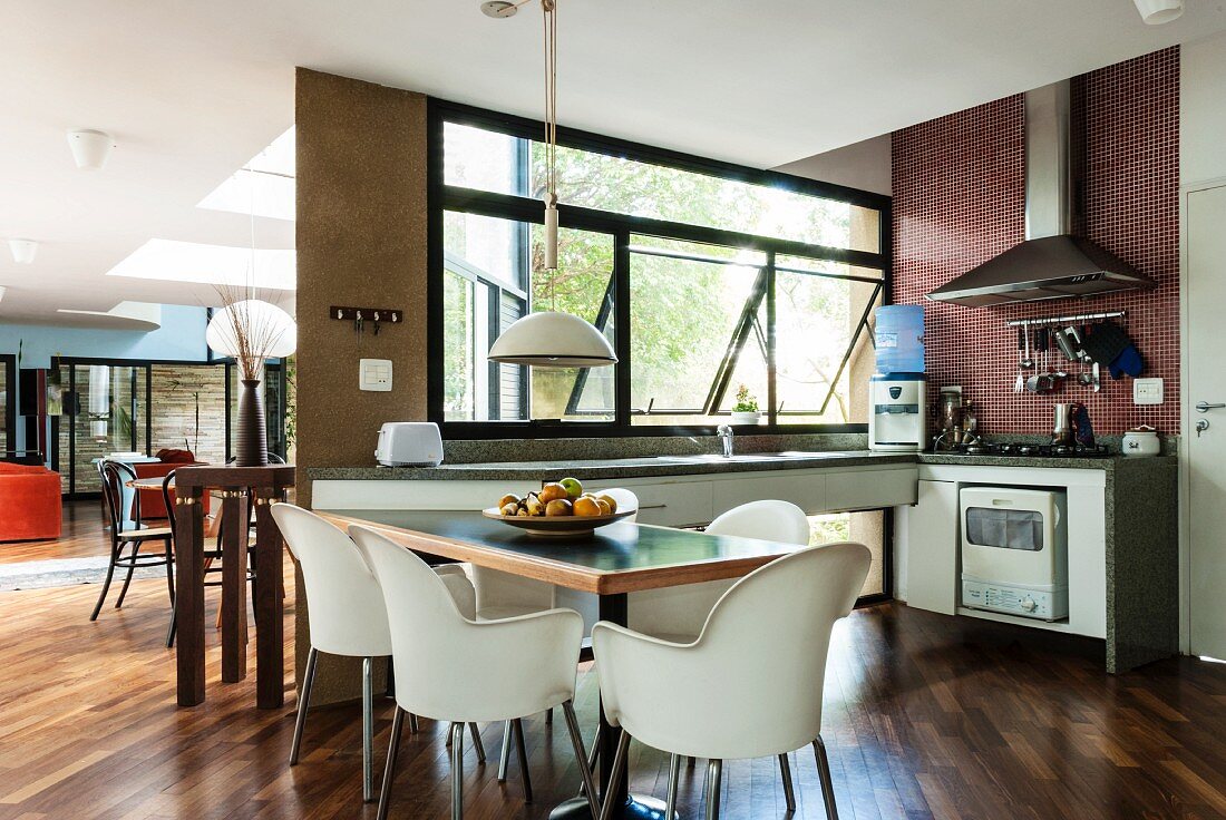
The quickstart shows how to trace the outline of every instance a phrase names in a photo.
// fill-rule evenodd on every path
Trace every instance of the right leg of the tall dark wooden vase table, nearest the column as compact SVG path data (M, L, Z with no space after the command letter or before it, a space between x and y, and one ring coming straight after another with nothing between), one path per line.
M284 543L272 518L272 503L284 490L262 488L255 495L255 705L286 702Z

